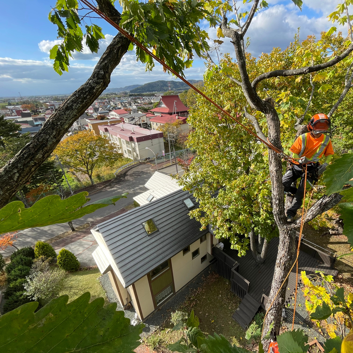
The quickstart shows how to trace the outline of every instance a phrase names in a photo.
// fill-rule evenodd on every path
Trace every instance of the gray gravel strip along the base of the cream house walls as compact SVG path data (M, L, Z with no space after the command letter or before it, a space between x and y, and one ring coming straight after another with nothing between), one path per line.
M193 289L197 289L203 283L202 276L207 276L211 271L217 271L217 266L215 264L210 265L205 268L201 273L199 273L191 282L189 282L184 288L180 289L177 294L173 295L169 300L166 301L161 307L158 308L151 316L145 319L144 324L146 325L143 329L141 337L149 336L158 327L162 325L164 320L169 317L170 313L176 310L182 303L184 303L185 298L189 292ZM117 303L118 306L116 310L124 311L125 317L130 320L135 318L136 311L131 308L129 310L122 309L118 298L116 297L112 284L110 283L108 274L99 277L101 285L107 293L107 298L110 303ZM137 319L140 322L139 319Z

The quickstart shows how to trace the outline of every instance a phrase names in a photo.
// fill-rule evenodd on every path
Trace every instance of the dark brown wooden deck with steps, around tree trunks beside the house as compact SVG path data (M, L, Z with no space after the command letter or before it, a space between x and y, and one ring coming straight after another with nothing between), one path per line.
M245 256L238 257L238 251L231 249L228 240L222 241L222 243L224 244L223 252L226 253L228 256L232 257L234 259L234 262L239 263L237 268L237 272L239 273L239 275L241 275L242 277L244 277L244 279L250 282L249 288L244 299L247 295L250 295L259 303L259 306L262 305L262 307L265 307L267 302L267 296L270 294L271 290L271 283L275 270L279 238L274 238L270 241L266 260L261 265L255 262L255 259L253 258L250 250ZM298 284L300 282L300 271L306 271L306 274L315 274L315 271L317 270L323 271L326 275L329 274L333 276L335 276L338 272L337 270L330 269L329 265L325 265L321 261L318 261L316 258L308 255L304 251L300 251L298 261ZM295 290L295 271L296 269L294 267L291 274L289 275L286 290L286 303L288 302L289 298ZM248 299L250 300L251 298L248 297ZM243 305L243 301L239 305L238 313L235 312L233 318L238 321L243 328L246 328L246 326L252 321L252 318L256 312L253 313L253 310L248 309L246 303Z

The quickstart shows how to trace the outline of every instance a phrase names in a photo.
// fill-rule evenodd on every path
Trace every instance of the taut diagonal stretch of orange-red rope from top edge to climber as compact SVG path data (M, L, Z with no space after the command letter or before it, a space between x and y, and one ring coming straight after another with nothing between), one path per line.
M169 67L165 62L163 62L160 58L158 58L158 56L156 56L155 54L153 54L149 49L147 49L142 43L140 43L138 40L136 40L133 36L131 36L130 34L128 34L124 29L122 29L118 24L116 24L113 20L111 20L108 16L106 16L106 14L104 14L103 12L101 12L100 10L98 10L97 7L95 7L94 5L92 5L89 1L87 0L80 0L81 2L83 2L83 4L85 4L86 6L88 6L90 8L90 10L94 11L95 13L97 13L100 17L102 17L103 19L105 19L108 23L110 23L114 28L116 28L122 35L124 35L126 38L128 38L128 40L130 40L132 43L134 43L137 47L141 48L146 54L150 55L153 59L155 59L156 61L158 61L164 68L166 68L168 71L172 72L175 76L177 76L178 78L180 78L183 82L185 82L187 85L189 85L193 90L195 90L198 94L200 94L202 97L204 97L206 100L208 100L210 103L212 103L215 107L217 107L219 110L221 110L221 112L223 112L224 114L226 114L227 116L229 116L229 118L231 118L232 120L234 120L235 122L237 122L241 127L243 127L247 132L249 132L251 135L253 135L254 137L256 137L257 139L259 139L264 145L266 145L268 148L270 148L271 150L275 151L277 154L280 154L283 158L289 160L290 162L293 161L293 158L286 155L285 153L283 153L283 151L281 151L280 149L278 149L277 147L275 147L273 144L263 140L261 137L257 136L257 134L255 132L253 132L252 130L250 130L248 127L246 127L245 125L241 124L241 122L237 119L235 119L231 114L229 114L226 110L224 110L223 108L221 108L216 102L214 102L213 100L211 100L211 98L209 98L208 96L206 96L204 93L202 93L198 88L196 88L194 85L192 85L189 81L187 81L184 77L182 77L178 72L176 72L175 70L173 70L171 67Z

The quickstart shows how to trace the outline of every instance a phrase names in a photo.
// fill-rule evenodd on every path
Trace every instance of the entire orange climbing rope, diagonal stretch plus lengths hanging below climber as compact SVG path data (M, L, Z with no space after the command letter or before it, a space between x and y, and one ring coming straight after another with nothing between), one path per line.
M113 20L111 20L108 16L106 16L106 14L104 14L103 12L101 12L100 10L98 10L97 7L95 7L94 5L92 5L89 1L87 0L80 0L80 2L82 2L83 4L85 4L86 6L89 7L90 10L94 11L95 13L97 13L100 17L102 17L104 20L106 20L108 23L110 23L114 28L116 28L122 35L124 35L126 38L128 38L128 40L130 40L132 43L134 43L137 47L141 48L146 54L150 55L153 59L155 59L157 62L159 62L164 69L168 70L169 72L172 72L176 77L178 77L179 79L181 79L184 83L186 83L188 86L190 86L193 90L195 90L198 94L200 94L202 97L204 97L206 100L208 100L211 104L213 104L216 108L218 108L219 110L221 110L221 112L223 112L224 114L226 114L227 116L229 116L229 118L231 118L233 121L237 122L241 127L243 127L247 132L249 132L252 136L256 137L258 140L260 140L264 145L266 145L269 149L273 150L274 152L276 152L277 154L279 154L283 159L287 160L288 162L293 164L293 161L295 159L298 158L293 158L288 156L287 154L283 153L283 151L281 151L279 148L277 148L276 146L274 146L270 140L267 138L267 141L262 139L261 137L259 137L255 132L253 132L252 130L250 130L248 127L246 127L244 124L242 124L238 119L234 118L230 113L228 113L226 110L224 110L223 108L221 108L216 102L214 102L213 100L211 100L211 98L209 98L208 96L206 96L203 92L201 92L198 88L196 88L193 84L191 84L189 81L187 81L183 76L181 76L178 72L176 72L175 70L173 70L171 67L169 67L165 62L163 62L160 58L158 58L155 54L153 54L149 49L147 49L142 43L140 43L138 40L136 40L133 36L131 36L130 34L128 34L124 29L122 29L118 24L116 24ZM306 174L307 174L307 167L305 166L305 184L304 184L304 201L305 201L305 192L306 192ZM310 197L311 199L311 197ZM283 283L281 284L280 289L277 291L275 298L273 299L271 305L269 306L269 309L267 310L265 317L264 317L264 323L265 323L265 318L268 314L268 312L270 311L274 301L277 298L277 295L279 294L279 292L281 291L284 283L286 282L289 274L291 273L293 267L295 264L297 264L297 282L298 282L298 257L299 257L299 249L300 249L300 240L301 240L301 235L303 232L303 225L304 225L304 201L303 201L303 214L301 216L301 224L300 224L300 232L299 232L299 242L298 242L298 248L297 248L297 258L295 259L295 262L293 263L291 269L289 270L289 273L287 274L285 280L283 281ZM310 203L310 201L309 201ZM309 208L309 205L308 205ZM307 213L307 210L306 210ZM306 216L305 213L305 216ZM297 282L296 282L296 286L295 286L295 301L297 300ZM295 307L294 307L294 314L295 314ZM293 315L293 325L294 325L294 315ZM293 325L292 325L292 330L293 330ZM263 335L263 329L264 329L264 324L262 327L262 335ZM261 336L262 336L261 335Z

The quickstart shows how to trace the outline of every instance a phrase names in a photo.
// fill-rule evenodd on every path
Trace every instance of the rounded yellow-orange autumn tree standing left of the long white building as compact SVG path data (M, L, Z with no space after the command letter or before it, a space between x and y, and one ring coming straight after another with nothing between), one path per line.
M95 168L112 166L122 157L117 148L106 137L97 136L91 131L80 131L61 141L53 154L58 156L61 163L87 174L94 184L92 173Z

